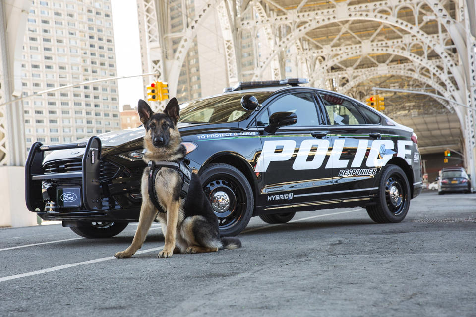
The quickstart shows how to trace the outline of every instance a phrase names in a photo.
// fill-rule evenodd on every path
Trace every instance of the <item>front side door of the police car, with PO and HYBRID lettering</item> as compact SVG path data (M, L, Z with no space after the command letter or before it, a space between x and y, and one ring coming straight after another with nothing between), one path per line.
M255 172L264 173L266 209L332 198L332 170L325 168L330 138L316 106L312 92L296 91L273 100L256 120L263 150ZM268 133L264 128L277 112L295 113L297 122Z

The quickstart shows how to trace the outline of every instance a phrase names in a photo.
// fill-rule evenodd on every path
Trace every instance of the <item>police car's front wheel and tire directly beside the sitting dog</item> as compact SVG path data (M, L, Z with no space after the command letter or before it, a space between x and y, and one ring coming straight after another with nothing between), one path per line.
M218 217L220 235L236 236L248 225L254 210L253 191L248 180L238 168L222 163L205 167L200 180ZM221 205L217 195L223 199Z

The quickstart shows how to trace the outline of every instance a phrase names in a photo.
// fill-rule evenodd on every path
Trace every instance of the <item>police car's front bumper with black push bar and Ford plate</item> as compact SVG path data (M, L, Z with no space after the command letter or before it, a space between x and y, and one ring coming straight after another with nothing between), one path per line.
M78 148L86 148L81 159L43 165L45 151ZM120 177L113 183L121 172L119 166L102 160L98 137L50 146L35 142L25 166L26 206L45 220L137 221L141 197L132 198L138 194L131 187L140 193L140 186L131 186L130 180L140 176Z

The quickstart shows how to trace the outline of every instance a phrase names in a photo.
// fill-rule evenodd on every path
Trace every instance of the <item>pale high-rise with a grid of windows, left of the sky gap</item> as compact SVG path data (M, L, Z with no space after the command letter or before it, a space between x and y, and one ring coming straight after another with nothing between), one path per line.
M117 76L109 0L33 0L22 53L22 94ZM23 102L27 147L120 129L115 80Z

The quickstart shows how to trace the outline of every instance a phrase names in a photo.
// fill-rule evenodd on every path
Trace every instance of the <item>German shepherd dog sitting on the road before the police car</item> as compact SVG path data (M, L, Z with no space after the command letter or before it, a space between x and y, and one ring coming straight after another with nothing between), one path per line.
M137 111L146 131L144 161L179 162L184 159L186 150L177 128L180 118L177 99L172 98L163 113L154 113L145 101L139 100ZM167 167L159 170L155 192L160 206L166 211L163 213L149 198L149 171L150 167L146 167L142 175L142 206L134 239L127 249L114 255L116 258L129 258L142 247L154 219L161 223L165 235L164 249L159 252L158 258L168 258L173 253L215 252L241 247L238 238L220 237L217 216L196 174L192 173L188 194L181 199L182 178L179 171Z

